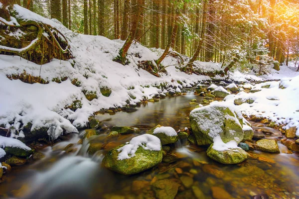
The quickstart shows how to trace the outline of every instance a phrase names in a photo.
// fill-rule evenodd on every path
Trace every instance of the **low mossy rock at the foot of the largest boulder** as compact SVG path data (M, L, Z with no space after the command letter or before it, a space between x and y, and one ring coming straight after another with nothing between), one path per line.
M207 150L207 156L222 164L238 164L248 159L248 153L240 148L232 148L225 151L213 149L213 144Z

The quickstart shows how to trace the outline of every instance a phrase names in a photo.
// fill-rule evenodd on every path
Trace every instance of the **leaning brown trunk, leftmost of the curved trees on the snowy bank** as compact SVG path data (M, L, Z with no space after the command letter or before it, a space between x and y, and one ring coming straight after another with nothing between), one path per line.
M126 60L127 52L134 40L134 35L137 29L137 25L139 23L141 12L143 10L143 0L134 0L132 6L133 6L133 14L132 14L131 30L124 46L120 49L120 61L123 65L125 65L127 62Z

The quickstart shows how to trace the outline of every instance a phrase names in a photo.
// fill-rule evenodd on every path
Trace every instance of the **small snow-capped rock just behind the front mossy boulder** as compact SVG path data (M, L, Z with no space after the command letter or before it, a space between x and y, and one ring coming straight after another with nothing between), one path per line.
M157 125L154 128L150 129L147 134L154 135L158 137L161 141L162 145L165 144L172 144L177 142L178 140L178 135L176 131L169 126L160 126Z

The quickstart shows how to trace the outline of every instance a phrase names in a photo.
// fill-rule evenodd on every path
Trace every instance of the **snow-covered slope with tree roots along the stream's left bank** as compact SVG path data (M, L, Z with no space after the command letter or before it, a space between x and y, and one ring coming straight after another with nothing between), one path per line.
M48 134L55 139L62 132L77 132L76 127L85 126L88 117L102 108L121 107L128 102L134 105L155 94L164 93L166 89L191 87L211 80L208 76L180 72L173 66L177 60L170 56L162 62L164 66L172 65L166 68L166 73L160 73L159 78L149 74L138 68L139 62L157 59L162 51L151 51L139 43L131 46L128 55L130 64L123 66L112 61L123 41L76 34L55 19L43 18L18 5L14 5L14 10L23 20L41 21L61 31L68 39L74 59L54 59L40 66L18 56L0 55L0 124L4 128L20 129L30 122L31 130L47 127ZM196 66L207 68L207 72L217 68L222 70L220 65L214 63L197 62ZM34 77L40 75L49 83L25 84L6 77L24 72ZM232 77L246 78L235 74ZM248 77L255 77L255 80L267 78L253 74ZM220 76L214 79L217 78L224 79ZM276 76L273 79L277 79ZM108 97L103 94L103 88L111 91ZM92 94L94 99L88 100L85 94ZM81 104L76 110L69 108L74 101ZM11 132L11 137L17 136L17 132Z

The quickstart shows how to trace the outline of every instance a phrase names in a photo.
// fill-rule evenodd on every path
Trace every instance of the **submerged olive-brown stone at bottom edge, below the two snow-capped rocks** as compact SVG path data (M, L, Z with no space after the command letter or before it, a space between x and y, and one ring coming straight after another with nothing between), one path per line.
M152 184L157 199L174 199L180 184L175 180L158 180Z

